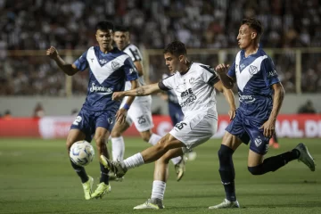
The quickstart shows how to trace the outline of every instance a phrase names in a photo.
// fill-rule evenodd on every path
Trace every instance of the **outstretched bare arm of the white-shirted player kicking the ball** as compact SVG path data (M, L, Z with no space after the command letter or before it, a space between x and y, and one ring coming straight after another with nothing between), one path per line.
M161 88L158 83L145 85L137 87L136 89L123 91L123 92L114 92L112 94L112 100L120 100L124 96L144 96L144 95L152 95L155 92L160 92Z

